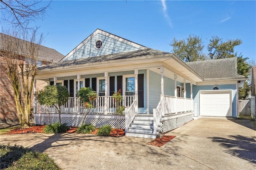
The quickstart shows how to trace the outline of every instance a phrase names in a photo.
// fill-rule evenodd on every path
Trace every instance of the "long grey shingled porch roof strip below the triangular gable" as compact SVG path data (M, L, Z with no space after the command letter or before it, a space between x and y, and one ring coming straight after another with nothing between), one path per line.
M111 60L118 60L118 59L129 59L134 57L146 57L146 56L161 55L161 54L168 54L168 52L146 48L146 49L138 49L135 51L129 51L124 53L115 53L115 54L101 55L96 57L86 57L82 59L60 61L58 63L49 64L49 65L40 67L38 69L39 70L52 69L52 68L72 66L72 65L82 65L82 64L88 64L88 63L97 63L97 62L111 61Z

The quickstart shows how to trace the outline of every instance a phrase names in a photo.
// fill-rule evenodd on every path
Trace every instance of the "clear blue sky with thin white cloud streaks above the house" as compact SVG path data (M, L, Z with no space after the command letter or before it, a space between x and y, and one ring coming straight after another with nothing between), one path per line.
M43 45L63 55L100 28L167 52L173 38L189 34L202 38L205 53L212 36L241 39L235 51L256 60L256 1L52 1L46 12L31 25L40 26Z

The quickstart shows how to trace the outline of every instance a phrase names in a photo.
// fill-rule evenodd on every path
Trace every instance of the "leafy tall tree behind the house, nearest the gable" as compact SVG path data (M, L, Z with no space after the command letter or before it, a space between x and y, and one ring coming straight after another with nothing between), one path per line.
M174 38L170 45L172 46L172 52L185 62L206 59L206 55L202 52L204 44L202 38L199 36L189 35L186 40L177 40Z

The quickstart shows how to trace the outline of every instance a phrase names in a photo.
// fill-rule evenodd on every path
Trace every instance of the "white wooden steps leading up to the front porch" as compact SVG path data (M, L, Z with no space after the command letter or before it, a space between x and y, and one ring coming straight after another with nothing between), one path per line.
M126 136L140 137L140 138L156 138L157 134L153 134L153 115L136 115Z

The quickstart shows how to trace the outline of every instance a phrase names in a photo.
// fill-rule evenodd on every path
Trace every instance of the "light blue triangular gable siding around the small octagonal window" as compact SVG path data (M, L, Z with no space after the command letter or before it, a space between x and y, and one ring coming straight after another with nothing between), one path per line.
M96 49L94 44L97 40L102 41L102 47ZM138 50L126 43L119 42L102 34L96 34L91 40L84 44L80 49L73 53L66 60L80 59L84 57L95 57L106 54L122 53L127 51Z

